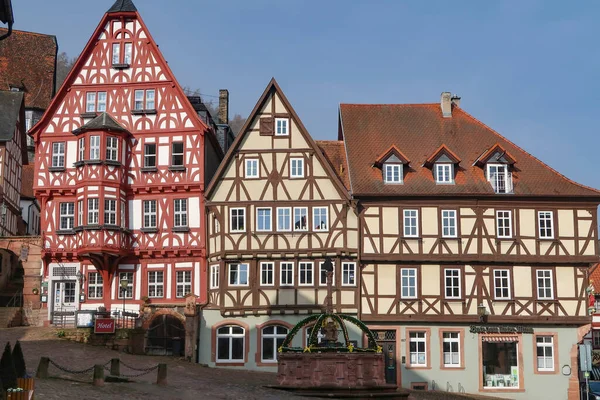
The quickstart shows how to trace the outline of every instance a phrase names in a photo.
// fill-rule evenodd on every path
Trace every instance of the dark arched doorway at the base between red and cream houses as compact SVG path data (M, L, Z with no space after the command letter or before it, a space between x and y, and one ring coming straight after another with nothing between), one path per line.
M157 315L146 333L146 354L157 356L183 356L185 353L185 327L179 318Z

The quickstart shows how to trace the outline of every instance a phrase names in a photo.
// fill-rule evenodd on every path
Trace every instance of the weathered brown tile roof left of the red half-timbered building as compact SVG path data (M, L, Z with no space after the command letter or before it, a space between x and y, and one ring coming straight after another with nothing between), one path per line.
M6 33L0 28L0 36ZM0 41L0 90L25 88L25 107L45 110L54 96L56 37L13 31Z

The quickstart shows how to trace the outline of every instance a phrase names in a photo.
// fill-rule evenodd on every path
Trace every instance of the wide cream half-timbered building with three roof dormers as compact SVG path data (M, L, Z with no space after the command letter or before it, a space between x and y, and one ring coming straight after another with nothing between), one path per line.
M578 398L600 192L459 101L340 106L360 210L360 318L377 332L389 382Z

